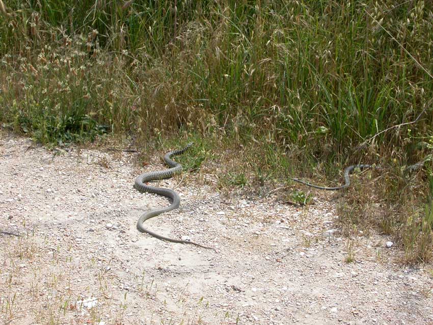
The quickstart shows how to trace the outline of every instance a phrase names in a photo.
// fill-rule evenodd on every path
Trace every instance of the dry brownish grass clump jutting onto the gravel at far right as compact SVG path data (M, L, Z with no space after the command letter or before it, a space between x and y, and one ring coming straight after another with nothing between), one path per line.
M371 228L391 235L404 250L403 262L429 262L433 257L433 204L422 206L425 198L414 193L428 193L426 184L415 182L418 175L401 174L402 170L388 168L370 184L356 183L340 199L340 223L346 235L362 229L368 235ZM428 199L427 200L431 200Z

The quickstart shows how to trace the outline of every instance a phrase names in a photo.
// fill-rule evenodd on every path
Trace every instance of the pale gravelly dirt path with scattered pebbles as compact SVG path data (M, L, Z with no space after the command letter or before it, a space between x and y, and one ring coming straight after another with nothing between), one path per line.
M211 175L161 181L180 182L181 209L148 227L215 253L136 230L143 211L168 204L132 188L163 168L158 159L142 170L128 153L51 159L28 139L1 137L0 230L21 234L0 234L4 323L433 323L431 265L394 265L386 237L359 237L356 261L345 262L333 201L227 198Z

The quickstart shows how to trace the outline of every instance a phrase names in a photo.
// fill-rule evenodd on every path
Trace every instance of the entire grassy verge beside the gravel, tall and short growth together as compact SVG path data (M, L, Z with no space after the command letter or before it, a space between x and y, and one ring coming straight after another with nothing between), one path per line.
M192 136L185 167L228 161L228 186L380 163L385 192L371 189L380 198L346 207L346 220L431 259L415 233L430 225L432 162L401 172L433 147L430 2L174 3L2 1L3 127L47 146L107 134L177 148ZM375 204L401 216L377 223Z

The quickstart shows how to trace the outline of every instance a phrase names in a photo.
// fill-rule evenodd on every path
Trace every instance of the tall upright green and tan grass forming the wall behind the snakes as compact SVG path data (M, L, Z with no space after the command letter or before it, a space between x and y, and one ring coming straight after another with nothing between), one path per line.
M205 132L214 121L246 141L296 142L331 158L431 112L433 82L396 42L433 71L433 14L422 1L179 1L177 10L174 4L8 2L0 22L2 79L13 75L11 85L33 89L4 89L6 111L15 99L30 112L32 92L39 103L59 103L50 91L41 93L46 78L58 78L77 89L71 88L77 100L84 86L90 96L98 93L80 107L117 130L172 132L192 123ZM49 68L56 59L64 62ZM30 65L43 75L26 73ZM73 69L83 72L75 77ZM132 111L134 122L127 121ZM107 112L122 117L116 126ZM413 132L431 133L429 112ZM418 156L403 145L406 132L384 132L375 141Z

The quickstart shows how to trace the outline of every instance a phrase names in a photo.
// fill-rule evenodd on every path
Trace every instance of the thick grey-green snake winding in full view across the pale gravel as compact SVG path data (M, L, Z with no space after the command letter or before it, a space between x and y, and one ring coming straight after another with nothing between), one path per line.
M149 181L152 181L152 180L171 178L175 174L180 173L182 171L182 165L180 165L179 162L172 160L171 156L181 155L186 150L188 150L192 145L193 145L193 143L188 143L182 149L173 150L173 151L170 151L170 152L165 154L164 161L165 161L166 165L170 167L169 169L166 169L164 171L147 172L147 173L141 174L140 176L138 176L136 178L136 180L134 182L134 187L139 192L141 192L141 193L146 192L146 193L153 193L153 194L161 195L161 196L164 196L166 198L171 199L171 201L172 201L170 206L167 206L165 208L160 208L160 209L149 210L149 211L146 211L145 213L143 213L137 222L137 229L140 232L147 233L150 236L153 236L153 237L158 238L160 240L166 240L166 241L170 241L170 242L183 243L183 244L191 244L191 245L195 245L195 246L198 246L201 248L215 250L212 247L207 247L207 246L201 245L199 243L196 243L194 241L172 239L172 238L168 238L165 236L161 236L161 235L159 235L153 231L150 231L149 229L146 229L143 225L146 220L153 218L154 216L157 216L161 213L177 209L179 207L179 205L180 205L179 195L176 192L174 192L172 189L155 187L155 186L148 185L146 183Z

